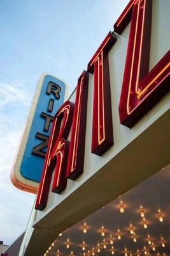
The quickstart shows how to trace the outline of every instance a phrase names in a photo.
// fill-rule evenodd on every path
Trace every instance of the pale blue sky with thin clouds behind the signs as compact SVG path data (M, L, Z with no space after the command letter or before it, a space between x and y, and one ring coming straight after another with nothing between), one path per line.
M10 182L10 169L43 72L71 93L128 0L0 1L0 240L26 227L34 195Z

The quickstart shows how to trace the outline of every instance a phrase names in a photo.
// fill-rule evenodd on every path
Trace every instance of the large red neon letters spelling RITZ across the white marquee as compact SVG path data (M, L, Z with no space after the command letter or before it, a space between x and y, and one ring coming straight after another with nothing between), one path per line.
M148 72L151 17L151 0L131 0L114 25L115 33L121 34L131 20L119 103L120 123L130 128L170 88L169 51ZM113 145L108 52L117 40L115 33L108 33L90 60L87 71L84 71L78 79L75 104L65 102L55 115L36 209L42 210L46 206L53 170L54 193L60 193L66 188L67 179L74 180L83 172L89 73L94 74L91 152L101 156ZM69 142L67 136L70 130Z

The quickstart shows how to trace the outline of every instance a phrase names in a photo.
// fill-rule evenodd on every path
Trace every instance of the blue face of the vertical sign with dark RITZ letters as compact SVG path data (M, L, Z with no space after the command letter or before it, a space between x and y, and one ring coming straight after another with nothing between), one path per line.
M66 91L66 84L50 75L44 77L40 87L34 96L38 100L32 103L32 123L20 164L21 175L35 182L40 182L53 116L63 104Z

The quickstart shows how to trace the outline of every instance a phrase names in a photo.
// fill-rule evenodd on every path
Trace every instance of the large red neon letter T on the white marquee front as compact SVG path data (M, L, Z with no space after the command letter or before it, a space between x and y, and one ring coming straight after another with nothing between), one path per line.
M94 74L92 153L98 156L113 145L108 51L116 40L115 34L108 33L87 67L87 70Z

